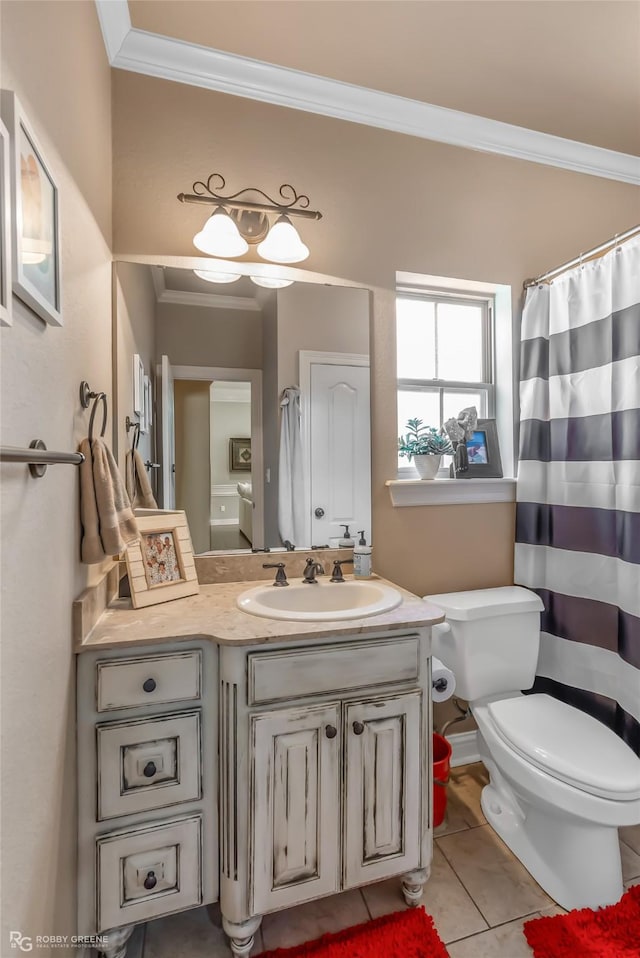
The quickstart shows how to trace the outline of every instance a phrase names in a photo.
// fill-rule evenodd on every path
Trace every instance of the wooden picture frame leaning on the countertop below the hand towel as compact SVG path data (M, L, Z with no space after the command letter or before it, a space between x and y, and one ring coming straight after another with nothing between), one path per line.
M136 510L140 539L125 553L134 609L199 592L191 534L184 512Z

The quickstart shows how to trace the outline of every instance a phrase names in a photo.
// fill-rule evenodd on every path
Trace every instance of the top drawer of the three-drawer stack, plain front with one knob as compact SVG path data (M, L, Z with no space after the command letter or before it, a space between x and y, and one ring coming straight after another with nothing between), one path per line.
M199 699L201 676L198 649L104 659L96 663L98 711Z

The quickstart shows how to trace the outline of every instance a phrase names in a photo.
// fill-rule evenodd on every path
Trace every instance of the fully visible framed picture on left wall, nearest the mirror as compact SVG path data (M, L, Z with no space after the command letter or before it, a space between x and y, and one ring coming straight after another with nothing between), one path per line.
M10 90L2 91L2 118L10 139L13 292L45 322L62 326L58 187Z

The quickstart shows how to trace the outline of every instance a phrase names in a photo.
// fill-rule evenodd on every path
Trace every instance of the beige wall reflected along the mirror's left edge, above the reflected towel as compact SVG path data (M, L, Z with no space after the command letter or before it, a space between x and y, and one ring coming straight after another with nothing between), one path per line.
M149 269L141 269L131 263L118 263L115 275L113 392L118 397L118 421L115 424L114 449L122 469L125 453L133 437L132 432L127 433L125 421L127 416L133 422L139 418L133 411L132 356L135 353L140 356L151 382L155 381L156 294ZM138 449L144 460L155 458L151 433L140 435ZM153 473L151 478L153 480Z

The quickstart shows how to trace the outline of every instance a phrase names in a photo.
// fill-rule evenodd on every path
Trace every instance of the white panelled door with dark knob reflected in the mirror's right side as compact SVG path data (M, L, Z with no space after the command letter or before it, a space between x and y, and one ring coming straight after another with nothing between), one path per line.
M369 367L314 363L309 403L311 543L371 538Z

